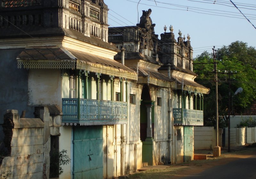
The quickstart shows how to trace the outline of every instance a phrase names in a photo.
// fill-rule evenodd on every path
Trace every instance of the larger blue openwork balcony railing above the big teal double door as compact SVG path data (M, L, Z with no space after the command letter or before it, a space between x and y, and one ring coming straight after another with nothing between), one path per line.
M63 125L127 124L127 103L95 99L62 98Z

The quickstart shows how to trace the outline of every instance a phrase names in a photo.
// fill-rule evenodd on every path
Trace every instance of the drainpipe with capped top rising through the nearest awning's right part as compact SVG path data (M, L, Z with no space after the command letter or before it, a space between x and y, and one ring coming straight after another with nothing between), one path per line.
M122 47L121 49L121 64L124 65L124 47ZM124 93L124 82L123 82L123 79L121 78L120 79L120 92L121 92L121 101L124 102L126 101L127 102L127 80L125 82L125 89L126 89L126 93ZM125 100L124 100L124 97ZM125 125L122 124L121 125L121 175L124 175L124 147L125 147Z

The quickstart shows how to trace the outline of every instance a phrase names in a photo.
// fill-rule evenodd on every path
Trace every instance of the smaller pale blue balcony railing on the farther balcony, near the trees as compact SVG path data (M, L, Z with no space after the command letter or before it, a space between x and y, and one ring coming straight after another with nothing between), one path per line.
M182 110L182 111L181 111ZM182 115L181 115L182 112ZM204 113L199 110L173 108L174 125L204 125Z

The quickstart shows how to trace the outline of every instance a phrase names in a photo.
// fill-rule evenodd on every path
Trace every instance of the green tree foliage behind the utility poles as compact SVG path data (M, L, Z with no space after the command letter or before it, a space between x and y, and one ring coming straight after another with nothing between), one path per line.
M213 55L204 52L194 60L194 64L213 62ZM229 82L230 106L236 89L243 88L241 94L233 97L233 112L243 112L246 108L251 107L251 104L256 100L256 49L247 47L244 42L236 41L229 46L220 48L216 53L216 61L218 62L219 121L220 127L225 127L228 119ZM216 113L214 64L195 64L193 68L198 75L195 81L210 89L210 94L204 96L204 125L214 126Z

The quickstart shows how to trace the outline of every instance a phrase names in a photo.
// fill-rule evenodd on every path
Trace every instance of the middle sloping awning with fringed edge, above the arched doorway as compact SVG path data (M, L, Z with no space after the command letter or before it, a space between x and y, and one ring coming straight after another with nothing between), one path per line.
M136 69L135 69L136 68ZM142 67L133 67L133 70L138 68L138 83L153 84L159 87L170 88L173 78L169 78L162 73L154 70L148 70Z

